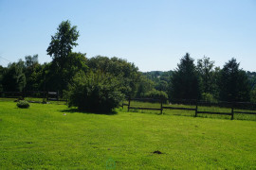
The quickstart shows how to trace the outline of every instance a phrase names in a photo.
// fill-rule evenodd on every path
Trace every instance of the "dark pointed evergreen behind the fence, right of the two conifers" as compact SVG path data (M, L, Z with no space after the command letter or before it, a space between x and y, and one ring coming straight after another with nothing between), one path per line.
M223 67L219 79L220 99L223 101L248 101L247 74L239 69L236 59L230 59Z

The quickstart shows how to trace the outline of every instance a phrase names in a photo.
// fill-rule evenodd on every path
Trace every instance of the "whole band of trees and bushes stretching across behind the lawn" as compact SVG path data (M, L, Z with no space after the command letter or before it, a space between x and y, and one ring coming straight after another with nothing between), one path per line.
M0 91L59 91L73 105L76 102L71 98L82 97L81 92L98 96L97 100L112 98L116 103L124 96L160 97L165 101L256 102L256 74L240 69L236 59L230 59L221 69L207 57L194 63L187 53L174 71L141 73L126 59L102 56L88 59L86 53L73 52L79 36L77 26L62 22L46 49L52 61L41 64L38 55L33 55L7 67L0 66ZM97 105L97 100L92 105Z

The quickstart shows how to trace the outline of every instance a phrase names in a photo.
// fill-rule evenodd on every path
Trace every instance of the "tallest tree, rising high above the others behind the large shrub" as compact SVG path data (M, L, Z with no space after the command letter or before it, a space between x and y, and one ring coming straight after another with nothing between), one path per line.
M67 88L67 84L72 77L66 73L72 72L70 69L73 69L73 67L70 64L73 64L73 57L77 60L77 55L71 54L71 52L72 48L78 45L76 42L78 37L79 31L77 26L71 26L68 20L62 22L58 27L57 33L51 37L51 42L46 50L47 54L53 58L48 74L51 76L49 80L52 86L48 90L60 91L62 93Z

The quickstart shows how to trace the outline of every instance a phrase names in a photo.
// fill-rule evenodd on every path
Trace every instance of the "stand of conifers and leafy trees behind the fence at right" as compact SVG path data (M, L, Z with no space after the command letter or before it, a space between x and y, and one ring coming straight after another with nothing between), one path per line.
M168 93L170 100L256 102L256 73L246 72L239 66L234 58L229 59L222 69L215 67L208 57L195 63L187 53L174 71L144 75L155 82L155 89Z

